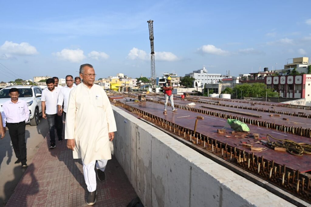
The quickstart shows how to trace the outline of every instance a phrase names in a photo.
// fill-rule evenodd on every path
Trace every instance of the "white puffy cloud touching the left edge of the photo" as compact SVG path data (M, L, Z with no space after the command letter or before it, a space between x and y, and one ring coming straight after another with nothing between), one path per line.
M37 49L27 42L18 44L5 41L4 44L0 46L0 59L14 58L15 55L35 55L37 53Z

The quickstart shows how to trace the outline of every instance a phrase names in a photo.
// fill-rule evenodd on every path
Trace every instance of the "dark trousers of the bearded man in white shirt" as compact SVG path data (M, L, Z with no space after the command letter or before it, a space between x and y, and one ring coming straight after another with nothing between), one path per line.
M55 143L55 128L58 140L62 140L63 136L63 116L56 114L46 114L49 124L50 143Z

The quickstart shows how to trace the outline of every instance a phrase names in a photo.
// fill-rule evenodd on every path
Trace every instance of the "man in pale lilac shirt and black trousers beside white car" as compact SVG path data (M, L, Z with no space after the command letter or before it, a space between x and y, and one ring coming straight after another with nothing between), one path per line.
M9 94L11 100L5 102L2 107L7 118L7 128L9 129L13 150L17 158L15 164L21 162L22 167L27 167L25 129L30 112L27 102L18 99L19 91L17 88L11 88Z

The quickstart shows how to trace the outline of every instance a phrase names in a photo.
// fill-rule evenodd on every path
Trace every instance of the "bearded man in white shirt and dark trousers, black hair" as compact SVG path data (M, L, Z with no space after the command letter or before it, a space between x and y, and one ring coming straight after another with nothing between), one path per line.
M50 149L55 148L55 127L58 141L63 141L63 119L57 115L57 100L60 92L59 88L54 85L53 78L46 80L48 90L43 90L41 95L42 118L48 119L50 134ZM46 110L45 110L46 109Z

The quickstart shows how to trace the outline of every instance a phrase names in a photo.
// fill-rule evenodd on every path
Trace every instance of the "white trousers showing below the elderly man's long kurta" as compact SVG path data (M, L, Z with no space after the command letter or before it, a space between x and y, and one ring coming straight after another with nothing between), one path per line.
M95 163L96 163L96 169L100 169L101 171L105 171L106 165L107 165L108 159L101 159L96 161L92 161L91 163L85 165L83 164L83 174L84 174L84 180L87 186L87 190L89 192L93 192L96 190L96 173L94 170Z

